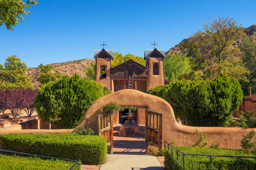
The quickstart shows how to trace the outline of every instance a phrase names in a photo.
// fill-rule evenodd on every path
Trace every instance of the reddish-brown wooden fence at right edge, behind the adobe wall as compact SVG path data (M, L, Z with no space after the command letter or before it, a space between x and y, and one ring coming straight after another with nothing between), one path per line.
M240 104L239 109L233 112L233 117L238 118L239 115L242 112L246 111L253 111L255 110L255 104L256 104L256 94L253 94L252 96L244 96L243 97L243 103Z

